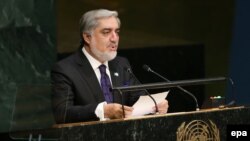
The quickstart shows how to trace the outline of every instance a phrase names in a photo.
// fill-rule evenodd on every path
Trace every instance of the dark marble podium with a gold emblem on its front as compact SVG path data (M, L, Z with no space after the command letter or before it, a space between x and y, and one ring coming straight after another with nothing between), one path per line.
M110 121L54 125L50 129L10 133L13 140L186 141L227 140L227 125L250 124L250 108L233 107L150 115Z

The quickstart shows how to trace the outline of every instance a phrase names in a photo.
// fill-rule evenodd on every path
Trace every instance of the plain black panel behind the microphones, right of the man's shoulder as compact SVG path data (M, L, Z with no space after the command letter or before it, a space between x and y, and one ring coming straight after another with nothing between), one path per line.
M144 64L171 81L204 78L204 46L201 44L121 49L118 54L129 59L134 74L143 84L164 82L155 74L146 72L142 68ZM193 93L202 106L204 85L184 88ZM149 92L166 90L169 89L154 89ZM195 110L194 100L177 88L170 89L167 99L169 112Z

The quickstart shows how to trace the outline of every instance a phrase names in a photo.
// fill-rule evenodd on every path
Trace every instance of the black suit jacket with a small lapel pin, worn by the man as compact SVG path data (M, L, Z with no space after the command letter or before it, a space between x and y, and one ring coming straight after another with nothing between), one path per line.
M125 69L130 67L127 59L116 57L108 64L113 87L138 84ZM105 99L95 72L81 49L55 64L51 80L52 108L57 123L98 120L95 109ZM139 95L134 92L123 94L124 104L131 106ZM115 103L121 103L120 94L113 93L113 97Z

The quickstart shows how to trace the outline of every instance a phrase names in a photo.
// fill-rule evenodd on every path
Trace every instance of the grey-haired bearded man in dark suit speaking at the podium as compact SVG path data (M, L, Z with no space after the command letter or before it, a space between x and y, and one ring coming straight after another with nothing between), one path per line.
M127 59L118 57L120 20L116 11L92 10L80 19L81 48L52 69L52 107L57 123L117 119L131 115L143 92L121 96L110 88L138 84L127 70ZM158 103L166 113L167 100Z

